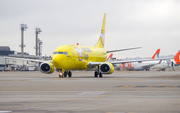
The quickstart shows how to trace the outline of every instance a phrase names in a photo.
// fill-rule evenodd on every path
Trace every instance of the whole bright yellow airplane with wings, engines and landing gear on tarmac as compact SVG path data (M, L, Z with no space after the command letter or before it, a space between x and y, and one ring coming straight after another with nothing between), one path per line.
M42 73L51 74L56 69L59 72L59 77L71 77L72 73L70 70L90 70L96 69L94 77L102 77L102 74L111 74L114 71L113 64L128 63L128 62L142 62L152 60L163 60L161 59L141 59L141 60L129 60L129 61L114 61L106 62L107 53L138 49L127 48L107 51L104 48L105 42L105 20L106 13L104 13L103 24L101 34L98 42L95 46L81 46L81 45L62 45L56 48L52 55L52 61L41 61L41 60L30 60L34 62L43 62L40 65Z

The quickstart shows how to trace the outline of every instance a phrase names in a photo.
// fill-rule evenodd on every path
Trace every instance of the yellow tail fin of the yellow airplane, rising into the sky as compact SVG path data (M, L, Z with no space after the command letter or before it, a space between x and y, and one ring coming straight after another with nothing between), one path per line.
M104 19L103 19L103 24L101 28L101 34L99 37L98 42L94 47L96 48L104 48L104 42L105 42L105 23L106 23L106 13L104 13Z

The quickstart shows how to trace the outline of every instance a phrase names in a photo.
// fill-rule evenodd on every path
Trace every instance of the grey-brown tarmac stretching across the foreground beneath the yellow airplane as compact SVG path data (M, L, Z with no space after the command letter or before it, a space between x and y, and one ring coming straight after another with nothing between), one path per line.
M180 113L180 71L0 72L0 113Z

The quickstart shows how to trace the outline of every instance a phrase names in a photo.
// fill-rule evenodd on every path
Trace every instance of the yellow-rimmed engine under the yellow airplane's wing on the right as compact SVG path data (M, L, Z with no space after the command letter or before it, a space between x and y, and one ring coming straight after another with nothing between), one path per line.
M114 66L109 62L105 62L101 64L100 71L102 74L111 74L114 72Z

